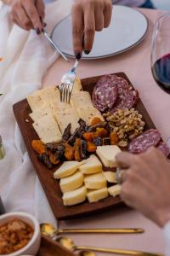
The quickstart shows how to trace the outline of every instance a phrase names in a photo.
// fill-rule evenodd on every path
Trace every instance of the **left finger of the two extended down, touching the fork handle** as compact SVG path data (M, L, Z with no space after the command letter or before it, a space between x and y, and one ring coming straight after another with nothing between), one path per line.
M84 30L82 9L77 5L73 5L71 9L71 15L73 49L76 58L79 60L82 56L82 37Z

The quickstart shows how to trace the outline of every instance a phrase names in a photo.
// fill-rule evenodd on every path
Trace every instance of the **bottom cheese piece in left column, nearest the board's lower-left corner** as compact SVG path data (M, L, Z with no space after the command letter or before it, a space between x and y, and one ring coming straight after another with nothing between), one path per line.
M74 191L66 192L63 195L63 202L65 206L74 206L86 200L87 189L82 186Z

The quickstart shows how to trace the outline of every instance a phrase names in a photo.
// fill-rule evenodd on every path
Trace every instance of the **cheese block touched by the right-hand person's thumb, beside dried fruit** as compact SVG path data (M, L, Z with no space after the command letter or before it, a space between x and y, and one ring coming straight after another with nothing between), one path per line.
M96 150L99 159L105 167L117 167L116 154L120 152L121 149L115 145L99 146Z

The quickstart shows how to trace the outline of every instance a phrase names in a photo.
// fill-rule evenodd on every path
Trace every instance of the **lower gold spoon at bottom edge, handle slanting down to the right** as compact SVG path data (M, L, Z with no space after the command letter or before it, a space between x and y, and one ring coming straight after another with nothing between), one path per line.
M140 255L140 256L163 256L160 253L145 253L142 251L133 251L133 250L122 250L122 249L110 249L105 247L87 247L87 246L76 246L74 241L69 237L61 236L56 241L58 241L62 246L73 251L76 250L90 250L101 253L113 253L113 254L122 254L122 255Z

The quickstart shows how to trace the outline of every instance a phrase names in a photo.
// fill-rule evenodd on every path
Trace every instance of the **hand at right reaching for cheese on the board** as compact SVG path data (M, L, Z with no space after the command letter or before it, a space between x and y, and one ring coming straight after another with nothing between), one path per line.
M157 148L144 154L122 152L122 200L163 227L170 220L170 161Z

